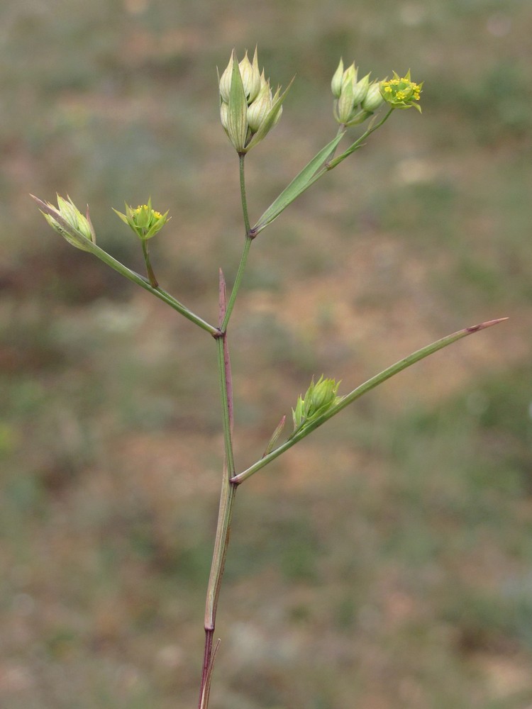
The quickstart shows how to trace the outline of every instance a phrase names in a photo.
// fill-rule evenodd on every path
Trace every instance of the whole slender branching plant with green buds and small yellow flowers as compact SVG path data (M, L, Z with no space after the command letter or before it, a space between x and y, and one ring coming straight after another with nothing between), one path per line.
M34 197L48 223L70 244L91 253L127 279L149 291L153 296L160 298L174 311L177 311L194 325L209 333L216 343L224 458L218 524L214 539L211 573L206 592L204 615L205 645L204 659L201 665L199 709L207 709L209 706L213 664L220 642L219 640L216 642L214 640L218 597L228 550L235 493L238 487L257 471L272 462L272 460L287 452L292 446L297 445L316 428L340 413L345 407L350 406L362 394L375 389L379 384L407 367L411 367L411 365L421 359L428 357L433 352L447 347L462 337L476 333L506 319L489 320L447 335L436 342L432 342L430 345L426 345L426 347L422 347L421 350L409 354L404 359L375 374L343 395L338 393L340 382L335 379L323 376L323 374L317 381L312 379L308 389L304 395L299 396L292 409L292 433L282 440L286 419L283 415L279 425L272 433L270 441L267 442L262 455L257 457L255 463L250 465L250 467L243 470L237 469L233 452L233 389L231 386L228 333L231 315L248 262L250 247L257 236L277 219L282 211L297 199L300 194L314 185L318 179L324 177L331 169L337 167L340 162L343 162L353 152L359 150L365 144L367 138L381 128L397 108L404 110L414 107L421 112L419 101L422 85L416 84L411 80L410 72L407 72L404 77L399 77L398 74L394 73L392 79L380 82L378 80L370 80L370 74L365 74L364 77L359 79L358 69L355 64L353 63L345 69L343 61L340 59L331 82L334 99L333 117L338 123L336 136L309 160L306 166L301 169L301 172L292 179L292 182L282 190L279 196L252 225L248 214L246 196L245 157L255 145L266 138L270 130L278 123L282 114L282 104L287 97L290 86L284 91L277 88L272 93L270 82L265 78L264 70L260 70L257 50L255 50L253 60L249 60L246 52L240 62L233 50L226 69L221 75L218 75L218 89L221 123L238 155L244 242L240 264L236 270L229 296L226 295L226 280L220 269L219 314L216 324L209 323L204 318L201 318L177 298L162 289L157 283L150 264L148 242L160 232L169 218L168 211L162 213L153 209L151 199L136 208L128 206L126 203L125 213L115 210L118 217L140 238L146 264L146 276L142 276L118 262L109 253L96 245L96 235L89 218L88 209L87 215L84 216L70 197L63 199L57 196L57 207L50 202ZM351 139L353 142L351 140L348 141L348 147L340 151L340 143L345 138L348 138L350 128L362 124L366 124L365 129L362 130L357 138Z

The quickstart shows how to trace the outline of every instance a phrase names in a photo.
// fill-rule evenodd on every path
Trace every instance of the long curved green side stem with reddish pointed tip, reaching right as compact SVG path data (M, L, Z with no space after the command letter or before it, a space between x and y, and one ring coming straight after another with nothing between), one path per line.
M231 479L231 482L235 483L236 485L242 483L244 480L248 479L250 476L256 473L257 470L260 470L261 468L265 467L265 465L272 462L272 460L275 460L275 458L277 458L279 455L289 450L289 448L292 448L293 445L299 442L302 438L308 436L309 433L318 428L318 426L323 425L323 423L325 423L334 415L342 411L343 408L349 406L350 403L353 403L353 401L360 398L362 394L365 394L371 389L375 389L376 386L382 384L383 381L386 381L391 376L394 376L394 374L399 374L399 372L402 372L403 369L411 367L412 364L419 362L420 359L424 359L425 357L428 357L429 354L433 354L434 352L438 352L438 350L442 350L443 347L452 345L453 342L461 340L462 337L467 337L467 335L477 333L479 332L479 330L484 330L485 328L489 328L492 325L497 325L497 323L501 323L503 320L507 320L507 318L488 320L486 323L480 323L480 325L473 325L471 328L459 330L458 333L447 335L447 337L443 337L441 340L436 340L436 342L433 342L431 345L427 345L421 350L417 350L417 352L409 354L408 357L400 359L399 362L392 364L391 367L387 367L387 369L384 369L382 372L379 372L379 374L375 374L375 376L372 376L371 379L367 379L364 384L360 384L360 386L358 386L356 389L353 389L353 391L344 396L342 400L336 404L336 406L331 407L328 411L326 411L326 413L323 413L319 418L316 418L316 420L307 424L305 428L299 430L296 434L292 435L289 440L282 443L282 445L273 450L271 453L268 453L267 455L265 455L265 457L261 458L260 460L257 460L257 462L250 466L248 469L244 470L238 475L235 475Z

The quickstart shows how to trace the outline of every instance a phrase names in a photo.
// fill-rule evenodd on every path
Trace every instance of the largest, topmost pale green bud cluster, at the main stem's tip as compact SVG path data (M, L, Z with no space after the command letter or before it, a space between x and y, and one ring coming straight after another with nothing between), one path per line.
M242 155L277 125L286 91L281 96L281 89L277 88L272 95L270 79L265 79L264 69L262 73L259 71L256 49L253 62L248 59L248 52L238 62L233 51L218 83L221 123Z

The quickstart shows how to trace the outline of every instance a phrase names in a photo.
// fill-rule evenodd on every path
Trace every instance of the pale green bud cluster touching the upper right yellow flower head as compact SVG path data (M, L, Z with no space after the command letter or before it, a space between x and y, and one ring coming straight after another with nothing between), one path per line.
M370 74L359 80L355 64L344 70L341 59L334 73L331 89L336 99L334 117L340 125L346 127L363 123L384 101L379 82L370 82Z

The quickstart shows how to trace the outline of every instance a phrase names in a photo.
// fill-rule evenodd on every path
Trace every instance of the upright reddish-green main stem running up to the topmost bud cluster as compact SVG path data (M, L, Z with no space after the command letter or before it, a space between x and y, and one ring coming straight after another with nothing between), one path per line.
M213 650L214 628L216 626L216 611L218 609L218 598L220 596L223 571L226 565L227 548L229 545L229 535L231 532L231 518L233 516L233 504L238 484L232 481L235 476L235 461L233 456L233 400L231 387L231 362L229 360L229 350L227 343L227 327L236 296L242 283L245 266L248 261L251 242L250 220L248 216L248 203L245 196L244 158L239 155L240 165L240 195L242 199L242 209L245 224L245 244L235 277L233 289L228 303L225 297L225 283L223 276L220 285L220 317L218 337L216 345L218 347L218 378L220 384L220 396L222 405L223 422L223 442L225 448L225 459L223 462L223 474L221 483L220 506L218 508L218 524L216 525L216 538L214 540L214 552L211 563L211 573L207 586L207 596L205 603L205 646L203 668L201 671L201 686L199 690L198 709L208 709L209 693L211 689L211 676L214 662Z

